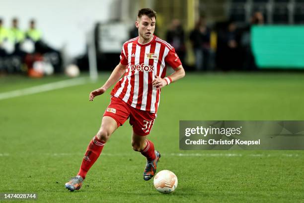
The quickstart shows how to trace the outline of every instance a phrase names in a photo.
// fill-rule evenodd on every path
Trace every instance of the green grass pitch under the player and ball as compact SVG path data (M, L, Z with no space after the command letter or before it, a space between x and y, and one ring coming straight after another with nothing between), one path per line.
M0 193L37 193L38 202L304 202L304 151L180 151L179 120L304 120L303 73L187 74L161 93L150 134L158 171L178 177L175 192L143 180L145 158L131 147L128 121L105 145L83 187L64 184L110 102L88 101L96 83L0 100ZM65 77L0 77L0 93Z

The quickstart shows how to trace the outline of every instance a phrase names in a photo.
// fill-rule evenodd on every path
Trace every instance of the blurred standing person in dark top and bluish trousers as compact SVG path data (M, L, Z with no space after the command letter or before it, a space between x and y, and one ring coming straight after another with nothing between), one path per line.
M199 19L194 30L190 32L190 40L194 50L196 70L209 70L210 29L204 17Z

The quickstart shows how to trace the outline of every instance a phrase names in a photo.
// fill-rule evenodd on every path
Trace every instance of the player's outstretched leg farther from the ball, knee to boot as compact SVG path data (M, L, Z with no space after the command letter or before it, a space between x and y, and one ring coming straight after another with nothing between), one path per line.
M114 118L109 116L104 116L102 118L101 126L97 134L90 141L86 149L77 176L72 178L65 185L67 189L69 189L70 191L75 191L81 188L82 182L85 179L87 172L98 159L104 144L110 138L111 134L117 129L117 126L117 122Z

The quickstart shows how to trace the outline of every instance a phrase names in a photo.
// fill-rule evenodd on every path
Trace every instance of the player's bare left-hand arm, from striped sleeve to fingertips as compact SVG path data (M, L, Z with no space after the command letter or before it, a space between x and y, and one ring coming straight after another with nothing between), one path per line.
M110 75L107 82L105 82L105 84L101 88L98 88L98 89L93 90L92 92L90 92L89 101L93 101L93 99L96 96L102 95L103 93L105 93L105 91L108 88L110 88L112 85L114 85L126 73L126 70L127 70L127 66L122 65L121 63L119 63L115 67L115 69L113 70L113 72Z

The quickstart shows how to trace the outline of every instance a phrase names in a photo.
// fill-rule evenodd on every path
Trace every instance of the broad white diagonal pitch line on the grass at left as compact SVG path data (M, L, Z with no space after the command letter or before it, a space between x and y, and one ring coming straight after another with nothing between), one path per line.
M36 93L42 93L47 92L51 90L61 89L61 88L67 88L71 86L76 85L82 85L86 83L87 78L76 78L76 79L70 79L70 80L64 80L64 81L58 81L54 83L48 83L44 85L39 85L31 88L25 88L21 90L14 90L9 92L0 93L0 100L25 96L25 95L33 95Z

